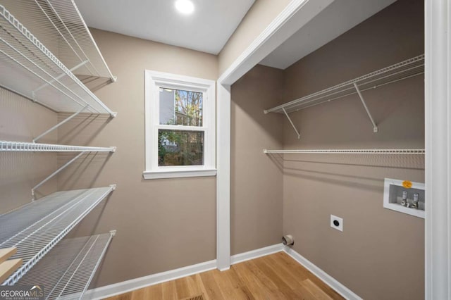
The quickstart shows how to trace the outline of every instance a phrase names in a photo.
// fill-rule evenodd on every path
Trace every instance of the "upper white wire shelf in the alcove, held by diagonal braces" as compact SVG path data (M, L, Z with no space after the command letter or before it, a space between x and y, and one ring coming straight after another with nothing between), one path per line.
M383 85L424 74L424 54L414 58L407 59L387 68L374 71L361 77L343 82L314 94L303 96L302 98L292 100L285 104L269 108L264 113L290 113L304 108L323 104L328 101L341 99L345 96L358 94L369 89L375 89ZM355 85L357 85L357 87ZM359 92L357 91L359 89Z

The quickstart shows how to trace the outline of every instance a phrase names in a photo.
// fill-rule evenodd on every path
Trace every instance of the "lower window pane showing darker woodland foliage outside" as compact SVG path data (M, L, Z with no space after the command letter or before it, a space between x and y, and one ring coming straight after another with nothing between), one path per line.
M204 165L204 132L158 131L158 165Z

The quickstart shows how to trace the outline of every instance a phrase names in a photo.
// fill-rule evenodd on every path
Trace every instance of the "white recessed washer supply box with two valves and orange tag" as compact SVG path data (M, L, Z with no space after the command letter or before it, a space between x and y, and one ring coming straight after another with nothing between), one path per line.
M407 192L407 199L403 201ZM414 199L418 198L418 208L413 208ZM402 205L402 203L406 205ZM419 218L425 215L424 183L385 178L383 189L383 207L407 213Z

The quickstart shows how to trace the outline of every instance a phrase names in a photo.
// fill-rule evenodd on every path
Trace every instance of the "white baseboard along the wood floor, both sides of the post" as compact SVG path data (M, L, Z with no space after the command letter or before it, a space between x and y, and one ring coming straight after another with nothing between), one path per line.
M327 285L335 289L335 291L338 292L338 294L341 294L346 299L362 300L362 298L357 296L357 294L354 294L350 289L342 285L340 282L338 282L333 277L328 275L326 272L324 272L316 265L311 263L309 260L307 260L307 258L304 258L304 256L298 254L290 247L283 246L283 244L275 244L261 249L248 251L242 254L236 254L230 257L230 262L234 265L235 263L242 263L243 261L249 261L254 258L274 254L280 251L285 251L285 253L287 253L289 256L295 259L295 261L303 265L304 268L307 268L307 270L316 275L316 277L319 277L319 279L323 280L323 282L325 282ZM157 285L161 282L176 280L181 277L186 277L214 269L216 269L216 259L213 261L206 261L205 263L188 265L187 267L184 268L178 268L163 273L157 273L154 275L144 276L132 280L127 280L124 282L118 282L116 284L107 285L105 287L90 289L85 293L83 299L94 299L94 300L104 299L109 296L115 296L118 294L131 292L135 289L141 289L143 287Z

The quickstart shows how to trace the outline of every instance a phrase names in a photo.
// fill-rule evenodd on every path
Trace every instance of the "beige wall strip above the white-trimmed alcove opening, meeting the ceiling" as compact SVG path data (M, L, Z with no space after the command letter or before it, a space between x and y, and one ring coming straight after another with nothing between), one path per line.
M290 0L256 0L219 53L220 76L254 42Z

